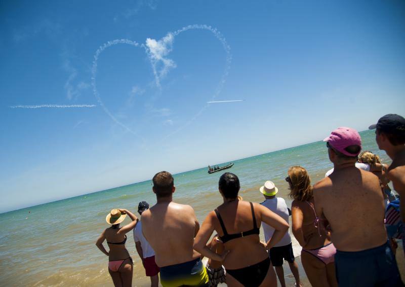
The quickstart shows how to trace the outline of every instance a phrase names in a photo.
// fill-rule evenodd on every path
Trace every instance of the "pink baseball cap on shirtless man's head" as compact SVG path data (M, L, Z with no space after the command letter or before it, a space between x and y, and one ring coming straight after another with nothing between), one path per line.
M328 141L329 145L341 152L342 154L355 157L361 151L361 137L355 129L348 127L340 127L331 132L331 135L325 138L323 141ZM349 146L359 146L360 150L358 153L351 154L345 150Z

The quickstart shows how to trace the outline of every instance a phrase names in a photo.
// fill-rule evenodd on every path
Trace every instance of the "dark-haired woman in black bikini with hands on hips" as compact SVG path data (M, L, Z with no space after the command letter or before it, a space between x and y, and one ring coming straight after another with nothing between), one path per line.
M224 203L208 214L195 237L194 249L208 258L223 261L228 286L276 286L267 250L284 236L289 225L258 203L238 200L239 189L235 174L222 174L219 192ZM259 238L262 221L275 229L267 243ZM225 253L221 255L206 246L214 230L224 243Z

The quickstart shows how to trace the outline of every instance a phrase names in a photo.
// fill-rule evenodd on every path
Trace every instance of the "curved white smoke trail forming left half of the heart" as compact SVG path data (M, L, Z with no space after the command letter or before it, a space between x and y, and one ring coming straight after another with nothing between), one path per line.
M97 91L97 85L96 85L96 74L97 74L97 62L98 62L98 57L100 56L100 54L107 49L108 47L117 45L117 44L128 44L128 45L132 45L134 47L138 47L139 44L135 41L131 41L128 39L116 39L113 41L108 41L107 43L104 43L103 45L101 45L96 53L94 54L94 59L93 59L93 67L92 67L92 86L93 86L93 94L96 97L98 103L101 105L101 107L103 108L104 112L106 112L106 114L118 125L120 125L121 127L123 127L124 129L126 129L127 131L129 131L130 133L139 136L136 132L134 132L133 130L131 130L129 127L127 127L126 125L124 125L123 123L121 123L120 121L118 121L112 114L111 112L107 109L107 107L104 105L103 101L100 98L100 95ZM143 138L141 137L141 139L143 140Z

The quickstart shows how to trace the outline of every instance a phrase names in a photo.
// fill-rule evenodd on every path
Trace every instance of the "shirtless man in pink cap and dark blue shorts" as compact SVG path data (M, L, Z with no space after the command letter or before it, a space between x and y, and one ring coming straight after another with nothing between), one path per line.
M361 150L360 135L352 128L340 127L323 141L335 169L315 184L313 194L320 223L331 229L337 249L339 285L401 285L384 227L378 176L354 165Z

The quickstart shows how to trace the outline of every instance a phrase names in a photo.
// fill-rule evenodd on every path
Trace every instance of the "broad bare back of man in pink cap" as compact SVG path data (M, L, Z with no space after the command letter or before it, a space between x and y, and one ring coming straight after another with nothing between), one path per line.
M335 169L314 186L315 208L329 221L332 242L355 252L387 241L384 201L378 177L352 167Z

